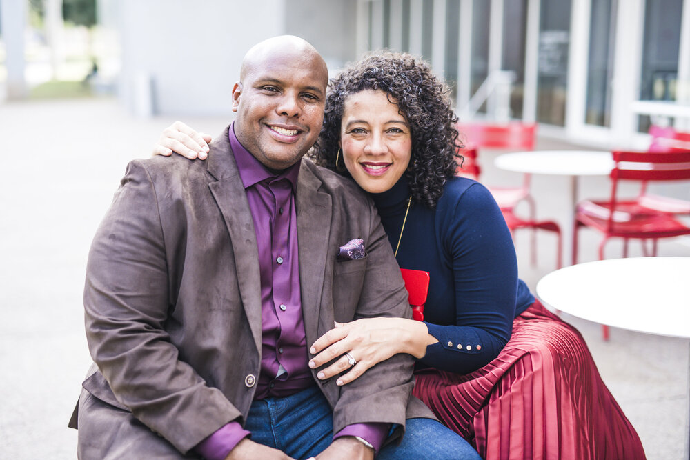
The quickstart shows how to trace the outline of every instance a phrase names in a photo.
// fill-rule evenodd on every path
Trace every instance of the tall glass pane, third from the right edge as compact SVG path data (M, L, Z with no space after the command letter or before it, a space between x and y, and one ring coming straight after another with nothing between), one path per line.
M537 121L565 126L571 0L542 1L537 70Z

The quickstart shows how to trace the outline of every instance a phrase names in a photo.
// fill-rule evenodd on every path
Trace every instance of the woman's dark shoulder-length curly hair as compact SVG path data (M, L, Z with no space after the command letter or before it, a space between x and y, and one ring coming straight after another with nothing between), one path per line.
M379 52L351 63L328 86L324 126L312 154L315 161L351 177L347 170L335 166L345 101L363 90L382 90L397 101L411 129L411 167L405 175L412 198L435 208L444 184L455 175L456 158L460 157L457 149L462 147L457 141L457 117L445 83L424 61L410 54Z

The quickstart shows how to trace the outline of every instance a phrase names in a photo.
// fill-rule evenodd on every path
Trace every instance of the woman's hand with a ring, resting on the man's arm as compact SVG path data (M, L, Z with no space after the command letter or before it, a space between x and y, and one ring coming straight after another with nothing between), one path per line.
M408 353L417 358L424 357L426 346L436 341L435 337L429 335L426 324L411 319L366 318L351 323L335 323L335 329L319 337L309 350L311 354L316 354L309 361L309 367L318 368L339 357L331 366L320 370L317 377L330 379L351 368L336 381L337 385L345 385L394 354ZM345 353L357 361L355 366L350 365Z

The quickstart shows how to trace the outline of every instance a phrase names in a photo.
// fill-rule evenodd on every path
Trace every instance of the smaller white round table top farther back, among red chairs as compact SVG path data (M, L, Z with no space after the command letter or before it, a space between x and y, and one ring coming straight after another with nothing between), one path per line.
M533 174L606 176L613 168L611 152L591 150L535 150L499 155L497 168Z

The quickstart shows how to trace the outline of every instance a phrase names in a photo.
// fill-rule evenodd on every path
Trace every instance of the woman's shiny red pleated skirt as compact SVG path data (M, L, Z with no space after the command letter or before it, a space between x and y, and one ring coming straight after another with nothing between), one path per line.
M413 390L484 459L644 459L580 332L539 301L471 374L420 370Z

